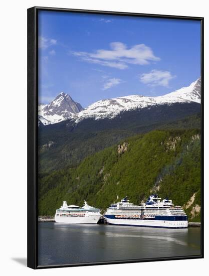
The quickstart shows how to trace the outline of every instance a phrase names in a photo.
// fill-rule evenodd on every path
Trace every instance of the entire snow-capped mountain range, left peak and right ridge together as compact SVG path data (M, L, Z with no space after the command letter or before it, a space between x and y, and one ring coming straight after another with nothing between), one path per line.
M119 113L142 109L154 105L189 103L201 101L201 80L198 78L187 87L157 97L130 95L112 99L104 99L92 103L83 109L68 94L60 93L51 103L39 106L39 120L44 124L53 124L66 119L74 119L76 123L86 118L95 120L114 118Z

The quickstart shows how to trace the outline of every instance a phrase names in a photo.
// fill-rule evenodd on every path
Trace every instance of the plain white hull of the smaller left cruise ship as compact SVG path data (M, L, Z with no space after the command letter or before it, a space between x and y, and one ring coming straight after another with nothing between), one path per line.
M72 224L96 224L100 220L101 215L85 216L85 217L60 217L55 216L55 222L72 223Z

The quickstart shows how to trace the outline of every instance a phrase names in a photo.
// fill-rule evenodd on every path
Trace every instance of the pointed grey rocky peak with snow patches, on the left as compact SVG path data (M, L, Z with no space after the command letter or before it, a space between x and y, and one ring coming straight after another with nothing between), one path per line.
M75 102L68 94L61 92L52 102L39 105L39 120L44 124L61 122L70 118L77 118L83 110L80 103Z

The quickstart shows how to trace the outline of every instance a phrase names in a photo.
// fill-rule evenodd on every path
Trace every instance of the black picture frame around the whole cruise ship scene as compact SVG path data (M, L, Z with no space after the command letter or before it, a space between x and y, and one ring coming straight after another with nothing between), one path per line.
M56 11L71 13L90 13L100 15L131 16L160 19L193 20L201 23L201 254L197 256L146 258L96 263L76 263L65 265L38 265L38 213L37 213L37 169L38 169L38 13L39 11ZM147 262L177 259L203 258L203 24L201 17L169 16L156 14L121 13L62 8L33 7L28 9L28 267L53 268L81 265L98 265L113 263Z

